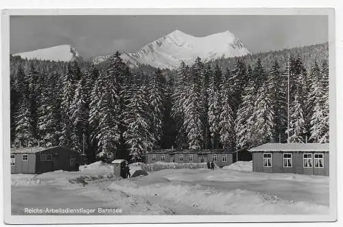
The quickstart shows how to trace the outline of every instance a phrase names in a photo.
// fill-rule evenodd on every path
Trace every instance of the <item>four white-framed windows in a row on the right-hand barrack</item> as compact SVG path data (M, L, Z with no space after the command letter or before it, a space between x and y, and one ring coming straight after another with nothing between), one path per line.
M313 160L314 160L315 168L324 168L324 155L323 154L314 154L314 159L312 158L313 158L313 154L305 153L303 155L304 168L312 168ZM290 168L292 166L293 166L292 153L283 154L283 167ZM263 154L263 167L272 167L272 154L271 153Z

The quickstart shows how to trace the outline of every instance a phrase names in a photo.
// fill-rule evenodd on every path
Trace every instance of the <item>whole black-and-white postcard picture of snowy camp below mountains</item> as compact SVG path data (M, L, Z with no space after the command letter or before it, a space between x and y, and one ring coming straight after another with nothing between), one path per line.
M331 215L317 11L10 15L11 215Z

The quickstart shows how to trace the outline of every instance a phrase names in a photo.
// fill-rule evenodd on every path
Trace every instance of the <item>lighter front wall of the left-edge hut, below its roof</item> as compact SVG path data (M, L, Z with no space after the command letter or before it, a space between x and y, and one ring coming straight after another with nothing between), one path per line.
M15 155L15 165L11 165L12 174L34 174L36 172L36 154L11 154ZM23 161L23 155L28 155L27 161Z

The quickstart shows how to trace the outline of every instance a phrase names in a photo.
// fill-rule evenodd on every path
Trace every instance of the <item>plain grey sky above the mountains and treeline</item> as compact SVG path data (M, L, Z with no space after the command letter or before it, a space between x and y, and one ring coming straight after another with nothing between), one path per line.
M84 57L134 52L180 30L230 31L252 53L328 41L327 16L10 16L10 53L70 44Z

